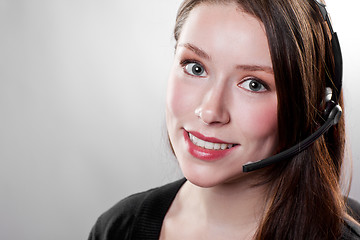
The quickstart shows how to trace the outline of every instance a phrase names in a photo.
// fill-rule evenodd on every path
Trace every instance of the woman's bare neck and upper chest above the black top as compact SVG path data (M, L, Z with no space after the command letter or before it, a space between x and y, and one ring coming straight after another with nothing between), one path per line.
M194 224L198 231L209 235L251 239L264 213L266 190L266 185L255 186L245 179L211 188L188 181L175 199L176 214L181 215L184 224Z

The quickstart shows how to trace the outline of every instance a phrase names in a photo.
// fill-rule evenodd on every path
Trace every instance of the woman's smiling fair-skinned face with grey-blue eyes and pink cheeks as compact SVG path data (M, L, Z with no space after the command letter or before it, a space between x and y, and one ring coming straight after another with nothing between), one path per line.
M277 95L263 24L235 4L195 7L167 92L170 141L185 177L211 187L277 147Z

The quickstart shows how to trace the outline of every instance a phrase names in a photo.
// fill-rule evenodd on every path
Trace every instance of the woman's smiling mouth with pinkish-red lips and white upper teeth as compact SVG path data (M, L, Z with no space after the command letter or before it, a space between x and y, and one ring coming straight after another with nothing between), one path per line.
M183 131L189 153L201 160L218 160L238 146L238 144L227 143L217 138L205 137L198 132L187 132L185 129Z

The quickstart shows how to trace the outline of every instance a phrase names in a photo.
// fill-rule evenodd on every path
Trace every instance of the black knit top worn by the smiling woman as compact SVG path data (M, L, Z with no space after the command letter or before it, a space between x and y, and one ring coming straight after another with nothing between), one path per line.
M177 192L186 179L131 195L103 213L91 230L89 240L159 239L161 226ZM360 221L360 204L349 199L351 215ZM345 221L342 240L360 240L360 228Z

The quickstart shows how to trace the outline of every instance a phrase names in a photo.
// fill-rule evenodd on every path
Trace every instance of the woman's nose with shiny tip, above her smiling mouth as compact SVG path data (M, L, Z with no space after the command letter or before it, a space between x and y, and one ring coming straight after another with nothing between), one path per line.
M201 104L195 109L195 115L206 125L227 124L230 122L230 113L225 100L225 90L213 88L204 94Z

